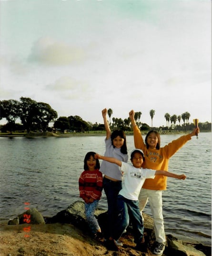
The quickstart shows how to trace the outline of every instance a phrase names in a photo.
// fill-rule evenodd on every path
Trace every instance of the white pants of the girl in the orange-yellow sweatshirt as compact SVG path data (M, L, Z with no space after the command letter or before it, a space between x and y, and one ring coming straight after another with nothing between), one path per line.
M166 241L166 237L162 215L162 191L141 189L139 195L139 207L141 210L141 215L146 203L148 202L148 199L150 202L151 214L154 220L154 232L156 241L158 243L163 243Z

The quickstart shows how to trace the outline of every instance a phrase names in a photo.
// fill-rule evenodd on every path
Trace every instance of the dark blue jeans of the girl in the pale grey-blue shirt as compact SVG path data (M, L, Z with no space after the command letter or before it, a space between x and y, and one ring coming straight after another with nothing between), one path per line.
M113 234L115 219L117 216L117 196L122 188L122 181L111 181L103 178L103 189L108 202L108 232L105 238Z

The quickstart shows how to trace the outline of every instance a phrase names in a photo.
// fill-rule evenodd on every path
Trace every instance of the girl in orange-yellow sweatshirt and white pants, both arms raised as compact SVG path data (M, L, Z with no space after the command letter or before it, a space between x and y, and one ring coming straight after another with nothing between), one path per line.
M200 131L199 128L195 128L192 133L183 135L161 148L160 134L157 131L149 131L144 143L141 131L134 119L134 110L130 111L129 116L133 127L135 148L143 150L145 161L142 167L147 169L168 171L168 163L172 155ZM166 184L166 176L157 175L154 179L146 179L139 195L141 212L149 199L156 237L156 247L153 253L159 256L163 254L166 242L162 215L162 191L166 190Z

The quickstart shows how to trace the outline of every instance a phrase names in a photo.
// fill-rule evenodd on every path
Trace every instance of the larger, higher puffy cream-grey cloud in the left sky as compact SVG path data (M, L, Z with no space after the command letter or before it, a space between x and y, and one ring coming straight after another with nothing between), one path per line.
M56 42L52 38L40 38L32 47L29 60L39 64L69 65L85 61L86 53L80 46Z

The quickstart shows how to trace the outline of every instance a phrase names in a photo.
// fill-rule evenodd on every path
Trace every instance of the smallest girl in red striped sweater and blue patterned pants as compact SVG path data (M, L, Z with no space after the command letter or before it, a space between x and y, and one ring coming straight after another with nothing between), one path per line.
M95 152L88 152L84 159L84 171L79 178L80 197L85 202L85 216L91 233L101 236L101 228L94 212L97 208L102 191L102 173L99 171L100 162L94 158Z

